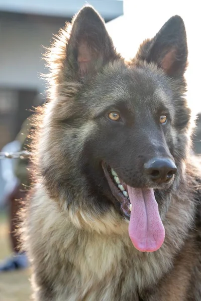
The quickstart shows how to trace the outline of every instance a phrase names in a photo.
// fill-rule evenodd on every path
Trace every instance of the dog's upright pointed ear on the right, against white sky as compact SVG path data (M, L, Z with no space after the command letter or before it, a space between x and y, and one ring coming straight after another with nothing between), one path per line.
M152 40L145 41L137 58L154 62L169 76L183 75L187 65L187 42L183 20L170 18Z

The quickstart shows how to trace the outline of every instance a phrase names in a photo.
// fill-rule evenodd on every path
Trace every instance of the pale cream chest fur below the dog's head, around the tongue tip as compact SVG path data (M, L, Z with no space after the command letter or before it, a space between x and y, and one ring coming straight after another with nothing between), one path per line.
M182 204L179 207L182 218L186 214ZM190 203L188 207L193 211ZM161 249L142 253L133 247L126 222L121 235L111 234L109 224L105 233L77 229L59 205L40 190L32 198L26 233L32 246L29 254L37 267L37 285L46 281L52 300L138 300L138 291L157 285L171 269L173 249L182 245L182 232L190 220L179 225L176 204L173 209L169 211L171 227L164 223L166 240ZM174 244L176 248L172 248Z

